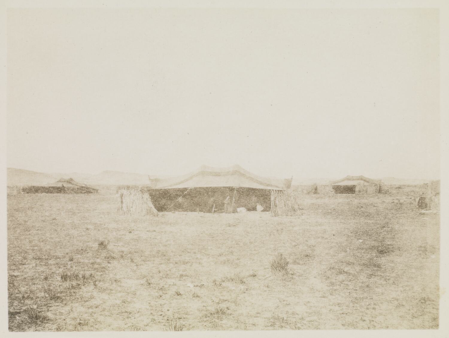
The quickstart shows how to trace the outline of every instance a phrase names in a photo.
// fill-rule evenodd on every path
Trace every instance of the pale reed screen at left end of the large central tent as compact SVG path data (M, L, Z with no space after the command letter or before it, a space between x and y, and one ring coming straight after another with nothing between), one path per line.
M119 190L119 213L123 216L157 216L150 194L139 189Z

